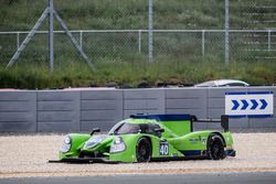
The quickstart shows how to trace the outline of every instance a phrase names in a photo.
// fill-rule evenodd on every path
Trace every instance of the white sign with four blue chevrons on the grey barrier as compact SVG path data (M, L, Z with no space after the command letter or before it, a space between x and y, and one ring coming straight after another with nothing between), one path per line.
M225 115L232 117L272 117L274 115L273 93L226 93Z

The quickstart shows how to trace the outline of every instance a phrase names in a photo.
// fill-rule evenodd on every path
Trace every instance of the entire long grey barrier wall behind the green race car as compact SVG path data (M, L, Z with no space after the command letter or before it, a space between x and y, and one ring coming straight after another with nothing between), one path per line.
M276 87L4 90L0 91L0 132L74 132L95 127L106 131L136 113L220 118L230 91L273 91L276 110ZM198 123L197 128L220 125ZM230 128L276 128L276 118L233 118Z

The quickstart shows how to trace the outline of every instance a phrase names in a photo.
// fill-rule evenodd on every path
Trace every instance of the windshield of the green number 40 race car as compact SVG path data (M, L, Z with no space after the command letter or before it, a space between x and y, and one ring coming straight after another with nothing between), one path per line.
M110 131L109 134L128 134L128 133L138 133L140 131L139 125L134 123L119 123L116 125Z

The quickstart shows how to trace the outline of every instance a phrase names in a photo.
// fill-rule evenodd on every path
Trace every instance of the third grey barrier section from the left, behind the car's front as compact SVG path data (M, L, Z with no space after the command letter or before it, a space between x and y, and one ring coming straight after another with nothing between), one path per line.
M81 91L82 131L93 128L109 130L123 119L123 90L84 90Z

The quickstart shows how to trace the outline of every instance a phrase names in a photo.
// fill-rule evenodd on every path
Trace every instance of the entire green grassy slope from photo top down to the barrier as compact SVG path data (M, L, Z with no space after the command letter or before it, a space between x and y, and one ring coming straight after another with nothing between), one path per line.
M57 12L71 30L147 29L148 0L54 0ZM29 31L43 12L47 0L0 0L0 31ZM253 0L231 0L232 29L252 28L243 15ZM263 0L254 3L272 4ZM223 29L223 0L153 0L155 29ZM274 14L268 14L273 18ZM47 21L41 28L46 30ZM264 29L267 24L256 25ZM61 30L55 22L55 30ZM273 34L275 35L275 34ZM21 35L20 40L25 35ZM78 39L78 35L75 35ZM248 59L256 53L245 53L244 35L231 34L231 64L225 66L224 34L205 34L205 55L201 55L201 33L156 33L155 62L147 61L147 34L141 37L138 53L137 33L84 34L84 50L95 62L92 72L76 54L64 35L55 35L55 65L47 67L47 36L36 35L22 53L19 63L4 69L15 51L15 36L0 36L1 88L64 88L105 86L137 87L140 82L155 86L157 82L197 84L216 78L236 78L252 85L276 83L275 61ZM273 40L274 42L274 40ZM264 45L266 47L266 45ZM275 48L275 47L272 47ZM248 55L246 55L248 54ZM274 53L261 53L264 56Z

